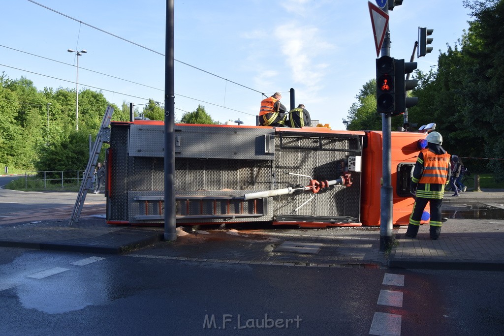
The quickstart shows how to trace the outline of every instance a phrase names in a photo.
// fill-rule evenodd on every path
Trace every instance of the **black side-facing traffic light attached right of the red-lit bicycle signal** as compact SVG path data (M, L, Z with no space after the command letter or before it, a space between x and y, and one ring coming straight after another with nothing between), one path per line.
M418 104L418 97L408 97L407 91L414 89L418 85L416 79L409 79L409 74L416 69L416 62L405 62L404 59L394 60L395 69L395 109L392 115L399 115L411 106ZM406 79L404 76L407 75Z

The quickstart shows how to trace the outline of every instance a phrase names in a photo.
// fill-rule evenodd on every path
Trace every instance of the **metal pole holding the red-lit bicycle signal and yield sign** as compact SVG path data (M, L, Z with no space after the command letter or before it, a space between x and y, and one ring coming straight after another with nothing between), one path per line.
M391 1L391 0L389 0ZM394 1L394 0L392 0ZM383 9L389 14L388 6ZM387 27L382 45L382 56L390 56L390 29ZM382 113L382 176L380 189L380 250L384 251L392 245L392 114Z

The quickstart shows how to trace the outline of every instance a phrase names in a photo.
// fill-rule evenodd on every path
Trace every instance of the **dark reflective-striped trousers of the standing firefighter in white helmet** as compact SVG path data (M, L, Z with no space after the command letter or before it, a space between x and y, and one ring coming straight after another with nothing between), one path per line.
M441 233L441 206L443 203L443 199L438 198L421 198L416 197L415 204L413 206L413 212L411 213L408 230L406 235L408 237L416 237L418 232L418 228L420 226L420 221L422 219L423 211L425 210L425 206L427 202L430 204L430 238L437 239L439 234Z

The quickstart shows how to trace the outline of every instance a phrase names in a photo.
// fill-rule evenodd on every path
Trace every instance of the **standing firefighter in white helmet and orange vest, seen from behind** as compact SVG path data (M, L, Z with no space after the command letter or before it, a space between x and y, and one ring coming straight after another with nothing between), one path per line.
M441 233L441 205L445 194L445 185L450 181L450 154L441 144L443 137L438 132L430 132L427 148L420 151L411 177L410 191L415 196L415 205L411 213L406 236L415 238L420 227L420 220L427 202L430 203L430 238L436 240Z

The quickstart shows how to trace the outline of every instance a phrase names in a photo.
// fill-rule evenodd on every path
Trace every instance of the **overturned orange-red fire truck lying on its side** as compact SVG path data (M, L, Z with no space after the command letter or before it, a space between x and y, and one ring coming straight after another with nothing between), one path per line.
M162 121L111 122L108 224L164 223ZM380 225L382 133L175 124L177 225ZM424 133L392 132L393 224L408 223Z

